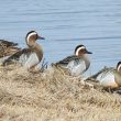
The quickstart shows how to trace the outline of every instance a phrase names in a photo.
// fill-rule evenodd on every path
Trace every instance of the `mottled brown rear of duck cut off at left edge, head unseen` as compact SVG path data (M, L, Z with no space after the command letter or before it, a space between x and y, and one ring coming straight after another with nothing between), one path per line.
M18 43L0 40L0 58L8 57L20 50Z

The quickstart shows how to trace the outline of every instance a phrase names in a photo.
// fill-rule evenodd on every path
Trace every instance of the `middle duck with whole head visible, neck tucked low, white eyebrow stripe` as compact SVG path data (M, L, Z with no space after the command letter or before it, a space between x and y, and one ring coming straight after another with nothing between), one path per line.
M90 66L90 61L87 54L92 54L87 51L86 46L80 44L75 48L75 54L65 57L64 59L52 64L53 67L63 69L65 74L70 76L80 76Z

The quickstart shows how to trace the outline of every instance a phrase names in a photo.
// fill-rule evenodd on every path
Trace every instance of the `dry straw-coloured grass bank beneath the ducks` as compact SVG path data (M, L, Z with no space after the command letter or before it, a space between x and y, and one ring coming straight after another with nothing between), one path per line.
M52 69L0 66L0 121L121 121L121 96Z

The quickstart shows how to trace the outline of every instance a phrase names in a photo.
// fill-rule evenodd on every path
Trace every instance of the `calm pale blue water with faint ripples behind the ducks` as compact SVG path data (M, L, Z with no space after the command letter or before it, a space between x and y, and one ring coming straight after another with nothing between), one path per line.
M25 34L37 31L46 40L50 64L74 53L78 44L89 55L96 73L121 61L121 0L1 0L0 38L25 47Z

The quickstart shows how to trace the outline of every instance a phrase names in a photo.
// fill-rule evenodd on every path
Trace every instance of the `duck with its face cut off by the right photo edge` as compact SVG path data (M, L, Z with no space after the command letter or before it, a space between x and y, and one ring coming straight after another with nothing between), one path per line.
M105 67L91 76L91 80L99 82L106 89L117 89L121 87L121 62L118 62L117 67Z

